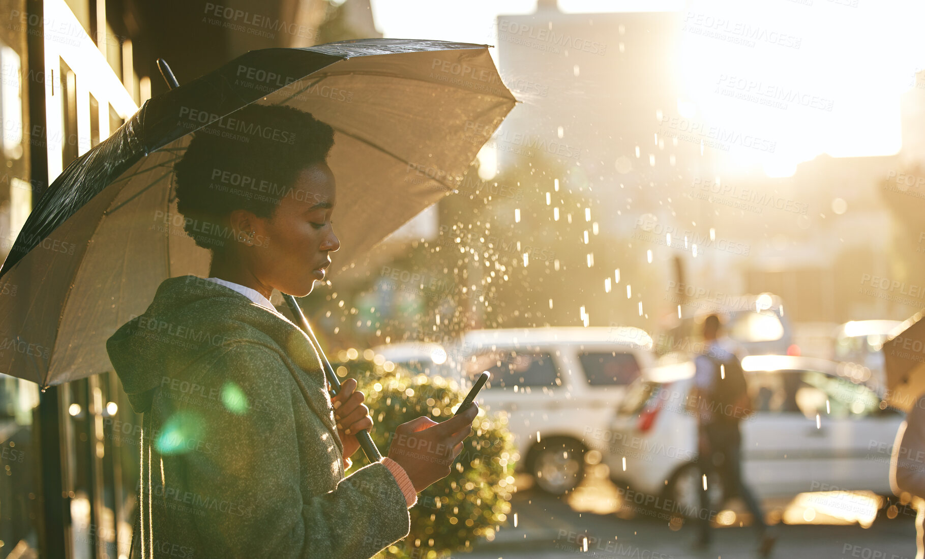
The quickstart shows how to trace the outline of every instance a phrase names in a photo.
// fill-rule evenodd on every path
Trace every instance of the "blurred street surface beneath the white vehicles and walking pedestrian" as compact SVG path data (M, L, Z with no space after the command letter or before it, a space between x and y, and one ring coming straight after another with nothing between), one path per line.
M695 539L689 527L669 526L650 516L623 518L608 509L620 509L616 488L590 469L585 483L573 495L556 498L533 488L518 490L512 499L511 517L517 527L502 527L491 542L481 542L473 553L454 553L467 559L553 559L586 553L591 557L681 559L757 557L752 528L715 528L709 551L691 549ZM518 477L529 485L529 478ZM777 503L765 502L766 509ZM785 503L782 503L785 504ZM799 511L803 516L803 511ZM870 528L854 525L778 524L777 545L772 557L913 559L916 554L912 516L879 518ZM585 551L584 540L587 541Z

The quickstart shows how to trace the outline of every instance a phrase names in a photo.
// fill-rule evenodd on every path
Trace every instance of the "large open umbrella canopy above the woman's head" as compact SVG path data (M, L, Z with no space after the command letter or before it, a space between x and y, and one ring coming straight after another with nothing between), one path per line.
M451 193L516 103L487 45L364 39L251 51L147 101L33 209L0 268L0 372L43 386L111 370L105 341L167 278L206 276L173 165L191 133L251 103L335 130L340 250L331 277ZM214 127L210 127L213 130ZM224 130L222 133L226 133Z

